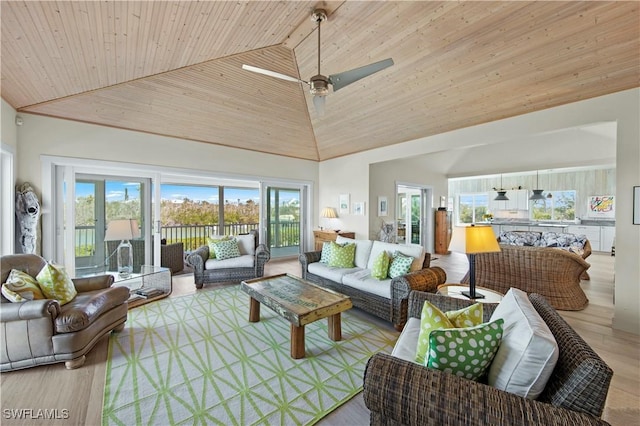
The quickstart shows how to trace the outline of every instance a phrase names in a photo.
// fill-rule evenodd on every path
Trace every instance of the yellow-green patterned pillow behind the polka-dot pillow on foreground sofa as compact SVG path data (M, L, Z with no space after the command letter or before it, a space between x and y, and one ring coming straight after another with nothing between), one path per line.
M416 362L425 365L429 352L429 335L433 330L471 327L478 324L482 324L482 303L475 303L457 311L442 312L429 301L425 301L420 315Z

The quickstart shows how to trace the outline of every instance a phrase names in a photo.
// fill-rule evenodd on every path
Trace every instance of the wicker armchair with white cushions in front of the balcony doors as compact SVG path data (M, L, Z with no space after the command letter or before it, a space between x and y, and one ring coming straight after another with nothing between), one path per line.
M196 288L200 289L207 283L239 282L264 275L264 265L271 254L266 245L258 243L258 231L253 229L248 234L238 235L237 239L248 241L246 244L238 244L241 256L237 258L209 259L208 245L187 255L187 263L193 268Z

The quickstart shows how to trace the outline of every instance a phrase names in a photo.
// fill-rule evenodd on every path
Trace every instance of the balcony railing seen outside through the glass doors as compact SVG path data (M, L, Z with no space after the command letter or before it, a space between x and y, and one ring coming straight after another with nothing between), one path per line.
M236 223L219 225L176 225L163 226L162 238L167 244L182 242L186 251L195 250L207 244L211 235L246 234L258 229L257 223ZM76 257L93 256L96 232L93 226L76 226ZM270 249L298 247L300 245L300 222L272 222L269 225Z

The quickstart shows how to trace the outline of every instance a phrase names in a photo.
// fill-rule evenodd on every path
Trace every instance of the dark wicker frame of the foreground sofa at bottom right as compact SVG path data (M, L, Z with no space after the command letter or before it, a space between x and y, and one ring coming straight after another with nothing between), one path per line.
M364 402L372 425L596 425L602 415L613 371L540 295L529 295L553 333L559 358L536 399L481 382L432 370L378 353L364 374ZM429 300L442 311L471 305L469 300L412 292L409 315L420 318ZM488 321L495 304L484 304Z

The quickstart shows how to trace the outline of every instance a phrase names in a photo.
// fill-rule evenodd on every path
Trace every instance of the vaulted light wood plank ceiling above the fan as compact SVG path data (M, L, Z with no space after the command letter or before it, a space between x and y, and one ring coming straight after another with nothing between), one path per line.
M640 3L3 1L18 111L322 161L640 86ZM327 96L308 80L388 57Z

